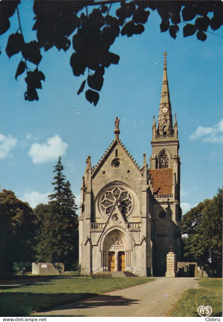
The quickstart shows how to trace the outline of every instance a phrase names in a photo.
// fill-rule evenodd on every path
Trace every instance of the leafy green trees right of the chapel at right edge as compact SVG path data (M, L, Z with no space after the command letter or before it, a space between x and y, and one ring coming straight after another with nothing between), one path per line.
M222 189L213 199L200 202L180 222L187 260L205 265L222 263Z

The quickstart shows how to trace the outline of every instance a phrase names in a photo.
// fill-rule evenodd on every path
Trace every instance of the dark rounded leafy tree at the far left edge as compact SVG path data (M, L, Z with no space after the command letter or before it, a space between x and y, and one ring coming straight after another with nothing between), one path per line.
M11 190L0 192L0 206L1 255L5 257L2 271L12 272L14 262L32 262L37 222L29 204L17 199Z

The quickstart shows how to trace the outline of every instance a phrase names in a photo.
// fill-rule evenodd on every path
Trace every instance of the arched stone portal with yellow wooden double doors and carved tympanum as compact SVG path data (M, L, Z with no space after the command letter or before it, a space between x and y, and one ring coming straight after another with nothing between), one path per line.
M120 228L115 228L101 240L103 271L124 271L130 267L131 238Z

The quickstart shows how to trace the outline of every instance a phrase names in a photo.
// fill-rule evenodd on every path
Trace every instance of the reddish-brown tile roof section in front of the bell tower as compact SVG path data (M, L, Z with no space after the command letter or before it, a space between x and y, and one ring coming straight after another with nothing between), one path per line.
M173 169L152 169L153 194L172 194Z

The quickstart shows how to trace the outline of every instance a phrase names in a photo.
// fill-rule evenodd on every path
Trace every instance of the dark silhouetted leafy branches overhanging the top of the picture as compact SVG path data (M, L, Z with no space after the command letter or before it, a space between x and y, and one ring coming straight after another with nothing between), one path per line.
M111 14L112 5L119 3L115 15ZM88 70L87 78L82 82L77 94L79 95L88 85L85 97L94 106L99 100L99 91L103 85L105 67L118 64L120 57L110 52L110 46L116 37L131 37L141 34L152 11L160 15L160 31L169 30L174 39L179 31L179 24L183 27L184 37L194 35L205 41L208 27L217 30L223 24L221 1L34 1L34 20L32 30L36 31L36 40L25 42L20 24L18 6L20 1L0 1L0 35L9 27L9 17L15 11L18 16L18 30L11 34L5 51L10 58L15 54L22 56L18 64L15 79L26 71L25 82L27 90L24 98L28 101L38 100L36 89L42 88L41 81L45 81L43 72L38 70L42 60L42 51L48 51L55 46L64 52L72 45L74 52L70 58L70 65L74 76L84 75ZM108 7L109 5L109 7ZM116 8L116 7L115 7ZM188 23L191 22L191 23ZM32 71L30 64L36 65Z

